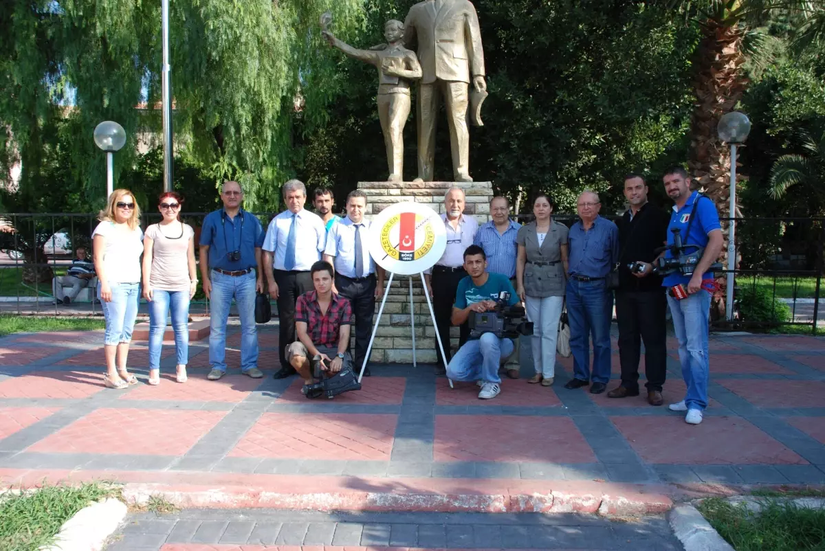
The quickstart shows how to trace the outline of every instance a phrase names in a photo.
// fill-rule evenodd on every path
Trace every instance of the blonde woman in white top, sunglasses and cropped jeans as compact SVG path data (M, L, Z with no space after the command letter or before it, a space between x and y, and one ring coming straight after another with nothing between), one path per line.
M141 241L140 209L129 190L115 190L109 195L101 223L92 232L97 296L101 299L106 333L106 377L110 389L125 389L138 379L126 370L134 318L138 315ZM115 368L116 365L116 368Z

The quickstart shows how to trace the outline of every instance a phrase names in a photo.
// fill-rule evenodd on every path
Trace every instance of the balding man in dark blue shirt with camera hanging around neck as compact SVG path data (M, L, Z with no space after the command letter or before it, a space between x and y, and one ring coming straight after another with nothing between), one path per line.
M224 208L206 214L200 230L200 280L211 308L212 370L207 379L214 381L226 373L226 322L233 297L241 320L241 370L260 379L255 291L263 291L263 228L254 214L241 208L243 190L237 181L225 181L220 198Z

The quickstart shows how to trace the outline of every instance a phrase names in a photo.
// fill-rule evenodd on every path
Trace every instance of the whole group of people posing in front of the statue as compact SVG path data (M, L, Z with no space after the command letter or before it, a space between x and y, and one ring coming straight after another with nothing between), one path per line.
M625 178L629 209L618 224L601 217L601 201L592 191L578 196L579 219L568 229L553 219L548 195L533 200L533 220L521 225L510 219L506 197L490 201L492 220L479 227L464 214L464 191L446 192L441 219L446 229L446 249L425 275L433 299L437 370L450 379L475 381L479 398L501 392L500 372L518 379L512 362L518 360L518 343L492 333L469 339L467 320L473 313L493 310L502 292L509 303L523 302L534 323L531 338L535 374L529 384L551 386L559 319L566 309L573 351L573 379L566 389L590 387L603 393L610 381L610 323L614 296L619 326L621 383L607 393L610 398L639 395L641 344L645 349L648 403L662 405L665 382L666 306L669 305L687 393L672 404L686 412L686 421L698 424L707 407L709 374L708 318L713 275L709 266L722 247L719 215L714 204L696 191L681 167L662 178L674 201L668 217L648 203L648 186L639 174ZM313 366L328 374L365 365L373 326L375 299L384 292L384 271L370 257L364 219L367 196L347 195L347 216L332 214L332 191L315 191L318 214L304 209L304 184L290 180L283 186L287 209L266 228L242 208L243 190L227 181L220 197L223 207L207 214L200 233L200 279L210 299L210 373L217 380L226 372L225 344L229 308L235 299L241 324L241 370L261 378L258 369L256 293L268 290L276 299L280 323L276 379L299 374L314 383ZM106 317L106 385L115 389L135 384L126 369L129 342L143 280L143 296L150 304L149 384L159 383L159 360L167 315L171 310L177 350L177 381L186 381L189 301L197 285L194 232L181 223L182 198L160 196L163 219L139 228L139 208L134 195L116 190L101 212L93 233L98 295ZM695 223L694 223L695 221ZM658 257L669 257L673 230L685 243L705 247L691 277L674 273L662 278L653 270ZM142 242L142 243L141 243ZM143 255L142 273L139 257ZM617 276L617 278L616 278ZM611 284L611 280L618 280ZM681 286L683 293L672 289ZM349 352L355 332L355 353ZM459 350L450 351L450 327L458 326ZM592 365L590 341L592 339ZM320 362L318 362L320 360ZM370 375L369 366L364 374Z

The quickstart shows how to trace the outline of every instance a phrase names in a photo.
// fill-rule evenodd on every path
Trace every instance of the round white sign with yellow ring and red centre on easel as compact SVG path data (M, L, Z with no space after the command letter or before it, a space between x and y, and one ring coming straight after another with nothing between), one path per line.
M446 247L444 221L426 205L389 205L370 224L370 255L394 274L413 275L431 268Z

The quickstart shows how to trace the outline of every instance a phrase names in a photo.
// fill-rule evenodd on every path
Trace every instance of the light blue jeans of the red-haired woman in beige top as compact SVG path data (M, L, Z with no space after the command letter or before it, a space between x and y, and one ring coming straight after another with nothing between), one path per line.
M172 329L175 331L177 365L189 360L189 291L152 291L149 303L149 369L160 369L160 351L166 318L172 308Z

